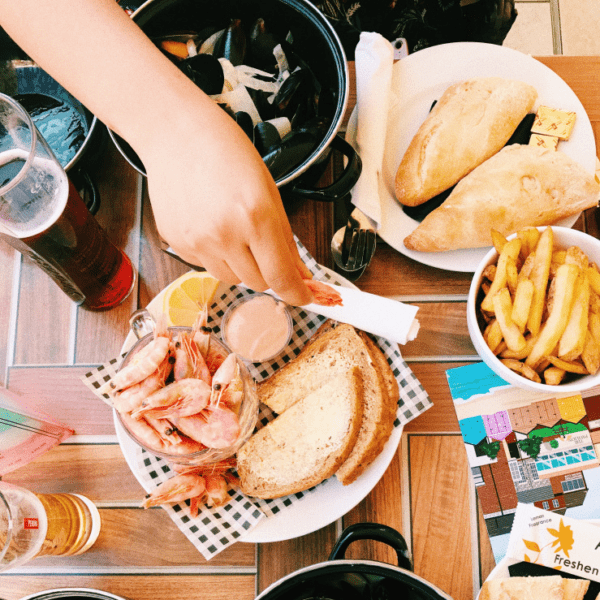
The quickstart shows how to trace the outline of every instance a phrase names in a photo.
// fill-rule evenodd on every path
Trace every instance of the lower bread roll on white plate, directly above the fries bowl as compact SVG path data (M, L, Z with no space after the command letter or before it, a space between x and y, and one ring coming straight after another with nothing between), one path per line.
M553 225L596 206L600 185L564 152L511 145L469 173L404 239L421 252L492 245L526 226Z

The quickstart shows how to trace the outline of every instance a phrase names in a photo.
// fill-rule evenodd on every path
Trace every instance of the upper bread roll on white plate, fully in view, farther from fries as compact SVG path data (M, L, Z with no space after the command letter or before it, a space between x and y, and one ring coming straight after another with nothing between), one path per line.
M418 206L498 152L531 111L534 87L500 77L450 86L411 140L396 173L396 198Z

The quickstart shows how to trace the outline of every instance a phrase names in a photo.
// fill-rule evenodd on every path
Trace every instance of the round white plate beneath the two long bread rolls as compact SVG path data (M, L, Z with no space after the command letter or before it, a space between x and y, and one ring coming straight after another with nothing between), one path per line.
M419 50L394 65L393 91L398 102L390 109L383 164L385 190L382 192L382 225L377 232L392 248L417 262L472 273L489 248L450 252L417 252L404 246L404 238L416 229L418 221L407 216L395 199L394 180L400 160L431 104L453 83L471 77L496 76L517 79L533 85L538 103L571 110L577 119L571 138L560 142L560 150L594 173L596 143L590 120L573 90L554 71L531 56L493 44L458 42ZM537 108L537 105L536 105ZM356 109L346 132L350 144L356 142ZM448 149L449 152L452 149ZM556 225L572 227L579 215Z

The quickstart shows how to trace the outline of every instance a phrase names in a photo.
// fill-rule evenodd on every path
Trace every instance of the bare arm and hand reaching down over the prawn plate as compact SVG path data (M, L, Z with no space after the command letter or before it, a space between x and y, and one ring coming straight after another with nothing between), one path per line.
M234 121L115 0L0 0L0 24L144 163L157 227L222 281L311 301L279 192Z

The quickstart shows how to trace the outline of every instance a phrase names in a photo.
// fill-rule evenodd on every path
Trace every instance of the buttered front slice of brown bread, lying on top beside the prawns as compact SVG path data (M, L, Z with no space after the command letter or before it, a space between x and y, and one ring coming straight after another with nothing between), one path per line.
M362 422L358 367L338 371L256 432L237 453L240 487L279 498L331 477L352 450Z

